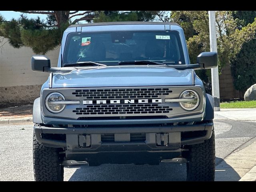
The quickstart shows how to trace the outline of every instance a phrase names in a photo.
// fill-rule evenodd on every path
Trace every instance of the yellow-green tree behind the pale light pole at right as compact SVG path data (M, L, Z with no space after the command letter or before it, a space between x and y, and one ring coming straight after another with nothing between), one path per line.
M172 11L171 20L177 22L184 29L186 35L190 61L196 62L200 52L210 51L209 21L207 11ZM244 26L238 28L231 11L216 11L217 45L219 71L223 66L230 64L240 52L244 43L255 39L256 18ZM208 77L210 71L197 72L203 80Z

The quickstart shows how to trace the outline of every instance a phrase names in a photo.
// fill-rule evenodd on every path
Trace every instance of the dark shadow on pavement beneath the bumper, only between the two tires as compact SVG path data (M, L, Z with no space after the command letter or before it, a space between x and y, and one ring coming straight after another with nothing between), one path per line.
M160 165L102 164L97 167L83 165L76 169L69 181L185 181L186 164L160 163ZM65 169L64 172L68 171ZM65 174L66 175L66 174ZM65 176L64 176L65 177ZM68 178L67 178L68 180Z

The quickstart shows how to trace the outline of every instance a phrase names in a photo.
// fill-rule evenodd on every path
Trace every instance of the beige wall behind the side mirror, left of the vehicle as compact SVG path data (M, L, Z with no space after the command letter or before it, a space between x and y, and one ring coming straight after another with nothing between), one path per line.
M1 38L0 38L1 39ZM33 72L31 48L13 48L4 38L0 42L0 107L32 104L49 73ZM57 66L60 47L46 53L52 66Z

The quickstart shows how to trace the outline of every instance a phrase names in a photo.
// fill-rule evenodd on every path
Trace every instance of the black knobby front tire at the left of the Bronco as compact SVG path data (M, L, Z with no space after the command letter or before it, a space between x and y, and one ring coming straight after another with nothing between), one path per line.
M43 146L33 134L33 166L35 181L63 181L62 148Z

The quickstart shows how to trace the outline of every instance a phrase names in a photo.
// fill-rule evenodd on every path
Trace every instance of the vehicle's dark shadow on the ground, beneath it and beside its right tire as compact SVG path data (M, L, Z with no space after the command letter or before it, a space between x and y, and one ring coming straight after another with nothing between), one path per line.
M216 181L238 181L240 176L222 158L216 157ZM68 181L186 181L186 164L160 165L103 164L65 168Z

